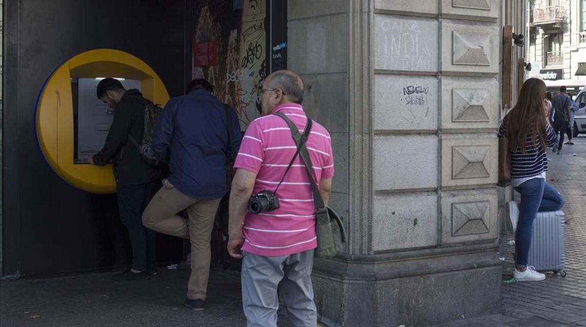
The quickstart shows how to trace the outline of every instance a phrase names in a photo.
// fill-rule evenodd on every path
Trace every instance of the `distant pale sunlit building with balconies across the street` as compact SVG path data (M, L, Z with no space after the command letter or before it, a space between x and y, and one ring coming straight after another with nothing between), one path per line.
M575 96L586 84L586 76L576 76L586 64L586 0L531 0L528 16L529 76L550 91L565 85Z

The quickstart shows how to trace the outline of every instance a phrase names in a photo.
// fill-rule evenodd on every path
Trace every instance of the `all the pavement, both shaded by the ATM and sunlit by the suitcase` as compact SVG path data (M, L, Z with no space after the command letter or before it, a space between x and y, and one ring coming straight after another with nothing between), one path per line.
M586 326L586 137L549 154L548 183L565 198L565 271L544 281L502 284L502 314L462 317L441 326ZM577 156L568 156L574 153ZM513 235L503 234L503 280L512 277ZM114 282L112 272L2 281L0 325L12 326L244 326L240 278L212 270L206 309L183 306L189 268L159 268L154 280ZM482 296L479 294L478 296ZM286 327L281 308L279 326Z

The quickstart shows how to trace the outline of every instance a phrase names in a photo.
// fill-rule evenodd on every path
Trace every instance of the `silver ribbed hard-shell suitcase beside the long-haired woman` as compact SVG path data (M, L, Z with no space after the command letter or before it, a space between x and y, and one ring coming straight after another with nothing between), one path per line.
M561 210L537 213L527 261L535 270L553 271L565 277L564 223Z

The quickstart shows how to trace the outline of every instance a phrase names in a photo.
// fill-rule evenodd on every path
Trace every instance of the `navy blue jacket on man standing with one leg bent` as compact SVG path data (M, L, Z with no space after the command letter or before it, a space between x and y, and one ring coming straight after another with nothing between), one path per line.
M236 111L231 110L234 145L242 141ZM219 199L227 192L230 152L226 108L209 91L193 90L169 100L156 122L152 148L169 163L171 182L194 199Z

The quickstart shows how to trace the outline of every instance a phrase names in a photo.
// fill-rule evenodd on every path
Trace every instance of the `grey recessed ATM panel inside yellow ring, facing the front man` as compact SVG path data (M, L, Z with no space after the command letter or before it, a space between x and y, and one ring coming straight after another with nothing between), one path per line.
M96 96L101 79L71 79L73 90L73 161L87 163L88 156L100 152L104 147L114 111ZM127 90L141 89L139 80L120 80Z

